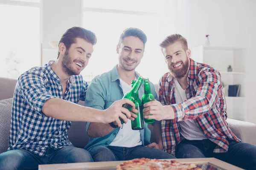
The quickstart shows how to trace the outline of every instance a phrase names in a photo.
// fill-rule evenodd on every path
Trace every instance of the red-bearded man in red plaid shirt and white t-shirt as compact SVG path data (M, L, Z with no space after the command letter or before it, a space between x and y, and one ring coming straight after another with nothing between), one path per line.
M177 158L215 157L256 169L256 145L242 143L226 122L220 73L190 59L179 34L161 44L169 72L159 82L159 102L145 103L144 118L162 120L163 147Z

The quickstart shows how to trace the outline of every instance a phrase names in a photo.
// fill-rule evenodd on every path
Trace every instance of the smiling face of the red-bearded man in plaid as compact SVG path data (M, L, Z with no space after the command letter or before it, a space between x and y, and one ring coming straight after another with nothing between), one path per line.
M190 50L184 51L182 43L177 41L163 48L163 55L172 77L182 78L189 70Z

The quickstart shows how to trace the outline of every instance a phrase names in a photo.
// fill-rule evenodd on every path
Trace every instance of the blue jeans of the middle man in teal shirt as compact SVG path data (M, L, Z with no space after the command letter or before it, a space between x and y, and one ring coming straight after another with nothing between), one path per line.
M94 161L125 161L135 158L175 159L174 156L162 150L144 147L95 146L88 150Z

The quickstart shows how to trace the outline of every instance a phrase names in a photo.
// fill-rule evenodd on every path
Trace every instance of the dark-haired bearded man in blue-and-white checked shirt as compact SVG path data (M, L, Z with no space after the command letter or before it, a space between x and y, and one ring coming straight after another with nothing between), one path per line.
M90 153L68 140L71 121L127 121L131 113L122 108L128 99L100 111L77 105L84 100L88 83L80 72L93 52L96 36L81 27L67 30L58 45L58 59L21 74L12 105L9 151L0 154L0 169L38 169L38 164L93 161ZM125 113L126 116L123 114Z

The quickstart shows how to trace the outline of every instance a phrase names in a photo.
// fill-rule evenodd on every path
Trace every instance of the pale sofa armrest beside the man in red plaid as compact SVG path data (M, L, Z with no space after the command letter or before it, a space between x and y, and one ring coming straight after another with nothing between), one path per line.
M227 119L227 123L242 142L256 144L256 124L235 119Z

